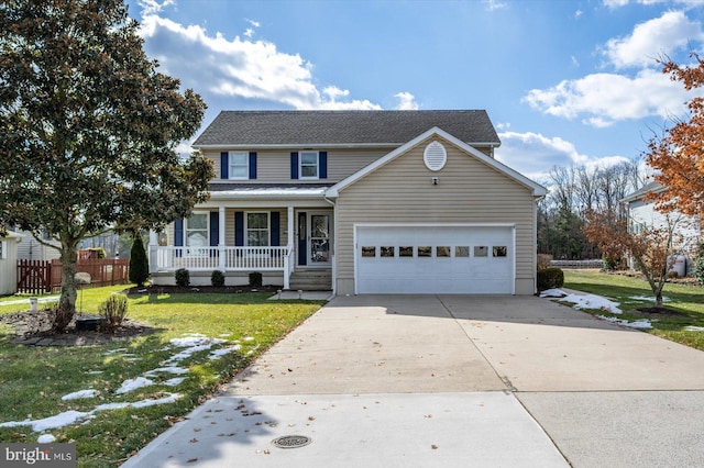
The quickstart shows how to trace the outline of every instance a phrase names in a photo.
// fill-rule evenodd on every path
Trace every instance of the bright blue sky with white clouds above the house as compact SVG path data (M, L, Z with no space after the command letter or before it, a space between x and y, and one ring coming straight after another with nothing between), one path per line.
M632 159L693 92L704 0L129 0L147 55L221 110L485 109L496 158Z

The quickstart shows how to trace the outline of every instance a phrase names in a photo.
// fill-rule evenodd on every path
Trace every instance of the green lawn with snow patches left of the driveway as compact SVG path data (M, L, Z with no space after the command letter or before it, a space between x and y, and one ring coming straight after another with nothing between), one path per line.
M101 302L124 288L85 289L79 292L77 307L82 300L81 311L97 313ZM0 424L37 421L69 411L90 413L74 424L46 433L59 443L75 442L80 467L118 466L323 304L322 301L268 301L270 296L200 292L129 296L128 317L156 327L157 332L99 346L15 345L10 343L12 331L0 325ZM0 299L0 314L29 309L28 298ZM24 300L23 304L7 304L18 299ZM169 361L188 349L175 346L172 339L193 334L217 338L216 344L209 349L194 348L195 352L182 360ZM231 352L212 354L223 348ZM187 369L187 374L150 372L163 367ZM116 392L125 380L140 377L154 385L127 393ZM178 377L185 377L183 382L168 385ZM79 390L95 390L97 395L62 399ZM110 410L101 406L105 410L96 411L109 403L152 404L173 395L172 403ZM0 442L34 443L40 434L30 425L0 427Z

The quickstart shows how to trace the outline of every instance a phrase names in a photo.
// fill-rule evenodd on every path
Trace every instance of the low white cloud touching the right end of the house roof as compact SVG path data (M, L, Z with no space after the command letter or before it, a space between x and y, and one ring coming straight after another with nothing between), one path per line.
M554 166L603 168L627 160L623 156L590 157L581 154L573 143L559 136L548 137L532 132L502 132L498 137L502 146L496 149L496 160L537 181L544 181Z

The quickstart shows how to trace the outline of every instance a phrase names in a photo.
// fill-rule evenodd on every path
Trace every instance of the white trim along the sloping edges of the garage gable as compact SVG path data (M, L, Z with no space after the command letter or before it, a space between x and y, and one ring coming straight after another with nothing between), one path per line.
M353 185L354 182L356 182L358 180L364 178L366 175L377 170L378 168L385 166L386 164L391 163L392 160L396 159L397 157L399 157L400 155L405 154L406 152L408 152L410 148L415 147L416 145L418 145L419 143L421 143L422 141L431 137L431 136L439 136L441 138L447 140L449 143L458 146L460 149L462 149L463 152L468 153L469 155L475 157L476 159L481 160L482 163L486 164L490 167L493 167L494 169L496 169L497 171L504 174L505 176L507 176L509 179L515 180L516 182L518 182L519 185L530 189L532 191L534 197L543 197L548 193L548 190L542 187L541 185L528 179L526 176L517 172L516 170L512 169L510 167L497 161L496 159L486 156L484 153L477 151L476 148L468 145L466 143L460 141L459 138L454 137L453 135L449 134L448 132L438 129L438 127L432 127L426 132L424 132L422 134L416 136L415 138L413 138L411 141L409 141L408 143L399 146L398 148L394 149L393 152L391 152L389 154L387 154L386 156L384 156L381 159L377 159L376 161L370 164L369 166L366 166L364 169L353 174L352 176L345 178L344 180L341 180L340 182L336 183L334 186L332 186L330 189L328 189L326 191L326 197L330 197L330 198L336 198L340 194L340 191L343 190L344 188Z

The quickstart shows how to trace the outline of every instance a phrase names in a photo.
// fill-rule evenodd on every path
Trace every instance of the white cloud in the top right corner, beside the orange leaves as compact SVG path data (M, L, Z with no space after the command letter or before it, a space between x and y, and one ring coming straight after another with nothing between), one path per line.
M690 21L682 11L668 11L637 24L629 36L609 40L604 55L616 68L651 67L658 65L658 57L702 40L704 34L698 21Z

